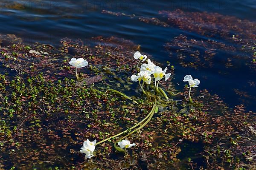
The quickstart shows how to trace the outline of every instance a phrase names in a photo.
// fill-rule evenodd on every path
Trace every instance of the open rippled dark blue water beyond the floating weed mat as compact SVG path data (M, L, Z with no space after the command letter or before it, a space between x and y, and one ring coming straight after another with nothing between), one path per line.
M56 46L63 37L79 38L85 43L91 37L99 35L125 38L140 44L143 52L151 54L163 65L166 65L166 61L170 61L176 68L173 81L175 84L180 84L177 88L182 89L183 76L191 74L201 80L198 89L206 88L212 94L218 94L231 107L244 104L247 110L256 111L255 70L244 67L241 64L244 62L242 59L236 61L236 65L232 68L223 67L227 58L232 59L236 54L218 52L217 57L213 59L212 68L198 67L197 70L183 68L175 57L169 57L169 53L164 48L165 43L180 34L197 40L206 37L172 25L166 28L143 23L130 17L116 17L102 13L102 10L108 10L136 16L157 17L166 21L158 11L181 9L189 12L216 12L255 22L256 0L211 2L207 0L1 0L0 3L0 34L15 34L28 44L41 42ZM218 36L211 37L211 40L227 43ZM235 44L230 45L236 47ZM236 94L236 90L243 91L249 97Z

